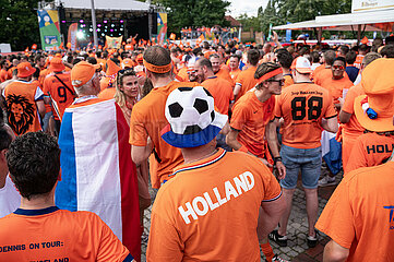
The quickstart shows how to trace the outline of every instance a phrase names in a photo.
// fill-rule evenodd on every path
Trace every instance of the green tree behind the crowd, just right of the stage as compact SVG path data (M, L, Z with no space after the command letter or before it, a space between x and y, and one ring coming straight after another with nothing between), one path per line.
M168 13L168 32L179 33L186 26L227 26L226 0L155 0Z

